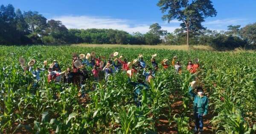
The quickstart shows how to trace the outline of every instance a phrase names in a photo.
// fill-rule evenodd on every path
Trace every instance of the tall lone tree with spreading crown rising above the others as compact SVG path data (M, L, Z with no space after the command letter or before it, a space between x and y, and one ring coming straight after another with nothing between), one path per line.
M179 20L183 31L186 31L187 45L189 45L189 31L196 32L204 29L201 25L206 17L214 17L217 11L211 0L160 0L157 3L163 15L162 19L170 23L171 20Z

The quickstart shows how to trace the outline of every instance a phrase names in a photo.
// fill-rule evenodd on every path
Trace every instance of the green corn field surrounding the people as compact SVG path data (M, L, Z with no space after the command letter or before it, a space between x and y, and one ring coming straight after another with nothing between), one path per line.
M142 106L134 104L134 88L128 76L119 72L106 81L86 81L81 89L64 83L47 82L41 74L38 87L31 73L24 73L19 57L36 59L42 67L58 60L65 70L72 54L108 56L115 51L132 61L143 54L147 65L157 53L164 58L177 56L182 73L162 66L142 91ZM189 60L199 58L200 70L190 74ZM92 74L91 74L92 75ZM193 100L188 89L198 80L209 98L209 114L204 130L209 134L256 133L256 53L175 51L142 48L81 48L69 46L0 46L0 133L1 134L163 134L193 133ZM92 87L96 85L94 90Z

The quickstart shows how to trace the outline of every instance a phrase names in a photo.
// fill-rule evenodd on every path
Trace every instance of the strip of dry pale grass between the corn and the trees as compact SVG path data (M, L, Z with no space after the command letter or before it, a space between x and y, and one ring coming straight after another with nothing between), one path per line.
M102 48L156 48L156 49L168 49L168 50L189 50L187 45L118 45L118 44L71 44L71 46L79 47L102 47ZM205 51L215 51L211 46L195 45L190 46L194 50L205 50Z

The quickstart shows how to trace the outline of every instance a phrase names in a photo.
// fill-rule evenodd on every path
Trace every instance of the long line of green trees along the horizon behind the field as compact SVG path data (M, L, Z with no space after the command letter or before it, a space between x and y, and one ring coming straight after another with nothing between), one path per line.
M164 0L163 0L164 1ZM160 0L158 6L164 7L166 3ZM177 3L176 3L177 4ZM208 5L209 6L209 5ZM210 6L211 8L211 6ZM198 9L197 9L198 10ZM204 10L204 9L202 9ZM215 10L211 9L215 15ZM180 12L177 12L180 14ZM170 21L170 16L164 16L164 20ZM175 16L177 17L177 16ZM182 17L182 18L181 18ZM186 19L184 15L181 20ZM196 17L195 17L196 18ZM172 17L173 19L173 17ZM202 19L202 18L201 18ZM191 20L194 22L195 20ZM163 30L158 23L150 26L145 34L135 32L129 34L126 31L114 29L67 29L61 21L47 20L37 11L20 11L9 4L0 6L0 44L1 45L26 45L26 44L147 44L147 45L210 45L215 48L236 48L256 45L256 23L241 26L228 26L227 31L212 31L201 26L200 23L190 25L189 21L181 23L180 29L169 33ZM185 24L187 23L187 24ZM196 25L195 25L196 24ZM191 28L190 28L191 27ZM188 34L189 29L189 34Z

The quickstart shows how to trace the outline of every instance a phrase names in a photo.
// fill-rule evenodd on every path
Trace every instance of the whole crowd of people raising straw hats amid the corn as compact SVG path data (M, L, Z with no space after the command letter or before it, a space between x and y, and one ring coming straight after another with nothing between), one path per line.
M154 79L156 72L159 69L158 63L156 61L157 54L151 55L151 65L146 65L143 60L143 55L139 54L137 59L128 62L123 56L118 57L118 52L110 54L107 59L105 56L96 57L96 53L93 51L91 53L85 54L73 54L71 67L68 67L65 71L61 71L61 67L58 61L54 60L47 68L47 60L44 61L43 68L33 68L36 60L32 59L29 61L28 66L25 65L25 59L20 57L19 62L24 72L29 71L35 79L33 87L37 87L37 82L41 80L41 72L48 70L47 81L48 83L73 83L74 85L82 88L85 86L85 81L90 77L94 81L99 82L101 80L108 81L111 75L114 76L117 72L122 72L124 75L128 75L128 83L134 86L134 102L139 107L141 106L141 91L143 89L148 89L148 83ZM177 74L182 73L182 66L180 61L177 60L178 57L172 58L172 63L169 63L168 59L163 59L161 65L163 69L167 69L170 66L175 68ZM186 69L194 74L199 69L199 60L195 59L195 63L190 60ZM136 77L137 81L131 81L131 77ZM195 115L195 132L201 134L203 129L203 117L208 111L208 99L204 96L202 88L197 86L196 81L191 83L189 87L189 94L194 98L194 115ZM93 85L93 89L96 86ZM197 94L195 94L192 89L197 89ZM84 94L82 94L84 97Z

